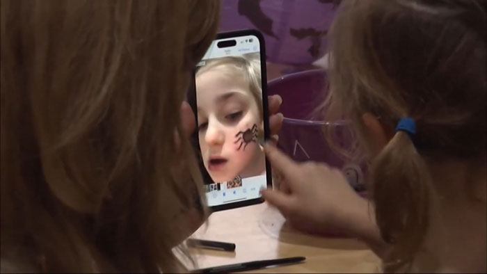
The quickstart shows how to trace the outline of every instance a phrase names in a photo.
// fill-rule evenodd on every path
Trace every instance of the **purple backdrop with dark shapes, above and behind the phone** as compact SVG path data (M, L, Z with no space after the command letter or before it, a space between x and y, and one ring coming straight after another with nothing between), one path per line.
M268 61L305 65L326 53L336 0L223 0L221 31L258 29Z

